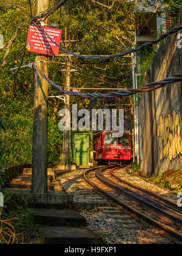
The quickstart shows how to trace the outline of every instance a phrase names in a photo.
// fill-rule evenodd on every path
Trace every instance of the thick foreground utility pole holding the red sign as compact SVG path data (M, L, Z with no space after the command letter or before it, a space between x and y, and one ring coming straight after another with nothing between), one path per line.
M49 9L49 0L38 0L38 14ZM48 25L49 18L43 21ZM49 57L37 54L35 63L38 69L48 77ZM36 73L33 149L32 149L32 193L47 193L47 105L48 82Z

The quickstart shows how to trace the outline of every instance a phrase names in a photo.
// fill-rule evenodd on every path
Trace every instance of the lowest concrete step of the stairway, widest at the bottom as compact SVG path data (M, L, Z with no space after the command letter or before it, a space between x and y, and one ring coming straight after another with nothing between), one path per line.
M75 227L41 227L39 233L45 244L99 244L103 242L101 237L92 230Z

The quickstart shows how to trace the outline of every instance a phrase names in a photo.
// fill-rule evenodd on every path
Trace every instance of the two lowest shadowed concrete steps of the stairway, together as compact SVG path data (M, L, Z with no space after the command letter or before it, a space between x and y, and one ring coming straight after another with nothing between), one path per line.
M31 207L31 205L29 205ZM35 206L35 205L34 205ZM41 208L42 207L42 208ZM101 237L87 229L86 219L73 212L64 210L65 205L36 204L31 208L44 244L98 244Z

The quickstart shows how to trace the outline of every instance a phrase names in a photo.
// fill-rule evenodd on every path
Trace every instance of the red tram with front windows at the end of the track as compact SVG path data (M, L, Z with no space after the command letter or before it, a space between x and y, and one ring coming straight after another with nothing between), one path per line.
M131 133L124 132L123 137L113 137L113 133L116 132L104 131L93 134L96 161L110 164L110 162L121 163L122 160L131 160Z

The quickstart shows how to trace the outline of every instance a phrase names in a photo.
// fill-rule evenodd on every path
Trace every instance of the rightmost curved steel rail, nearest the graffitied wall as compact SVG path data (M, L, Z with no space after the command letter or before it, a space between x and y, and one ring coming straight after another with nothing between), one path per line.
M116 176L116 174L114 174L114 170L116 168L113 168L111 171L110 171L110 174L115 177L115 179L117 179L119 182L121 183L124 183L126 185L128 185L129 187L131 188L134 188L135 190L138 190L138 191L141 191L143 192L144 194L147 194L147 197L149 199L152 199L152 200L155 200L155 201L158 201L160 204L164 204L166 205L167 207L171 208L172 210L174 210L175 212L179 212L182 214L182 209L180 207L177 206L177 204L175 204L174 202L171 202L169 200L167 200L166 198L156 194L156 193L153 193L152 191L149 191L149 190L146 190L144 188L141 188L141 187L138 187L136 185L133 185L132 183L129 183L127 182L126 180L123 180L121 179L120 177Z

